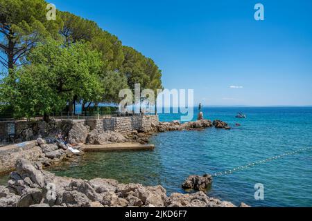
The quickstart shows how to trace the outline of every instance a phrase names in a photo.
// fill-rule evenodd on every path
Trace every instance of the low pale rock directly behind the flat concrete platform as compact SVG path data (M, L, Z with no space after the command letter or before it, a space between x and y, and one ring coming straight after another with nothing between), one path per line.
M91 131L87 137L88 144L110 144L110 143L123 143L127 139L121 133L114 131Z

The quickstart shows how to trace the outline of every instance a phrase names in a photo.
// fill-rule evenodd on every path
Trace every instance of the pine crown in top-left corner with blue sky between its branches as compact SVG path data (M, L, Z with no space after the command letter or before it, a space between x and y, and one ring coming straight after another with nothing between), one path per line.
M38 42L57 37L60 19L46 19L44 0L0 0L1 64L12 69Z

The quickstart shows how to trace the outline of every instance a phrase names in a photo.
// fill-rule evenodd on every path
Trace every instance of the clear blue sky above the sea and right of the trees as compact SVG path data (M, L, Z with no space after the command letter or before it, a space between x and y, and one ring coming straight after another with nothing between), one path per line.
M50 2L153 58L164 87L194 89L196 104L312 105L311 0Z

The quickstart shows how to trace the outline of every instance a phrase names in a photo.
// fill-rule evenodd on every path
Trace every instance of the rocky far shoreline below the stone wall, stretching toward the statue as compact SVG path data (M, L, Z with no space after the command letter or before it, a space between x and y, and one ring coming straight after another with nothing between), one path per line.
M73 123L70 130L64 126L66 129L63 128L60 130L60 133L62 133L65 140L67 140L69 144L72 144L74 149L78 149L80 153L72 153L68 150L66 145L55 140L53 137L58 135L58 130L53 128L51 132L48 132L49 135L47 135L47 137L50 138L37 138L36 141L16 144L15 148L12 148L10 151L1 152L0 149L0 167L2 168L0 169L0 174L12 171L15 161L20 157L34 162L40 162L44 167L58 166L61 162L70 161L77 155L83 155L83 151L80 150L83 144L98 145L126 142L148 144L150 137L157 133L164 133L167 131L199 131L212 127L213 125L214 123L206 119L184 124L178 121L157 122L151 123L148 128L140 128L130 133L121 134L114 131L96 129L90 131L87 126Z

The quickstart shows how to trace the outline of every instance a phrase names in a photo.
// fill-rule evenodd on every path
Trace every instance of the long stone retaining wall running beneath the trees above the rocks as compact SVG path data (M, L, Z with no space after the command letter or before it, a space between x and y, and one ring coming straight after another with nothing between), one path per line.
M58 131L62 131L64 135L67 135L73 124L89 126L91 131L98 130L129 133L134 130L148 129L152 123L157 124L158 122L159 119L157 115L111 117L105 119L55 119L49 124L42 120L0 122L0 144L1 142L12 142L12 140L16 143L35 140L40 135L42 137L53 137L59 133ZM10 137L8 132L8 128L10 128L9 125L13 125L14 135L12 137Z

